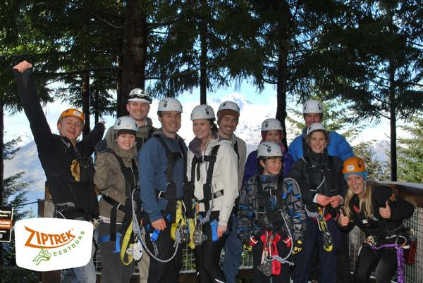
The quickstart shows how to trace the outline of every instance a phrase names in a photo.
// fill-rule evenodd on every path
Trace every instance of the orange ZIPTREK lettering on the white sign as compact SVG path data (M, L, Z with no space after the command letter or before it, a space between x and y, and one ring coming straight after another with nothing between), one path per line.
M25 226L25 229L27 232L31 233L25 243L25 246L30 248L54 249L64 246L75 239L75 235L72 234L71 230L61 234L46 234L33 230L27 226Z

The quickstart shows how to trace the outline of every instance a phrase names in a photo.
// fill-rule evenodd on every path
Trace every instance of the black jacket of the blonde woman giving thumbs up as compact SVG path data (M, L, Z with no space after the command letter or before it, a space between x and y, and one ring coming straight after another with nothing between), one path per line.
M368 181L372 182L372 181ZM350 201L350 218L352 222L342 229L353 229L355 225L360 227L367 236L387 237L393 234L400 234L403 230L402 224L405 218L409 218L414 213L414 206L393 194L391 187L373 183L372 187L372 217L366 218L364 213L358 212L360 208L360 200L358 196L353 196ZM391 218L382 218L379 214L379 208L386 207L388 201L391 208Z

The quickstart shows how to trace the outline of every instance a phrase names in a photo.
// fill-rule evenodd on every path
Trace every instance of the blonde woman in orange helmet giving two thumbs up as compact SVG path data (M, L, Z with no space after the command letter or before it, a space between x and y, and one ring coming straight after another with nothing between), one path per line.
M368 236L355 263L355 282L369 282L373 270L376 282L391 282L397 268L398 277L404 271L397 262L410 236L403 220L415 208L396 196L390 187L367 180L362 158L353 156L345 160L342 172L348 192L343 205L345 215L341 213L338 224L345 230L357 225Z

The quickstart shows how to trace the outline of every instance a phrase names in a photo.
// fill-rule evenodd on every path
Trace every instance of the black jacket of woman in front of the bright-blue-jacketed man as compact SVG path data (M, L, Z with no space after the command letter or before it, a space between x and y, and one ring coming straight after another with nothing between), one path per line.
M329 156L326 149L324 153L309 150L303 158L295 161L288 177L298 182L306 208L317 211L317 204L313 202L316 194L345 196L348 187L342 175L342 167L343 161L336 156Z

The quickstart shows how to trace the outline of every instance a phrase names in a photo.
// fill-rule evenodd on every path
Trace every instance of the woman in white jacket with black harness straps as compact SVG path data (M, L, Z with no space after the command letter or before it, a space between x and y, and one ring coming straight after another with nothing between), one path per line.
M219 258L226 242L231 213L238 196L238 157L226 139L219 139L212 106L192 109L192 139L188 151L187 177L197 201L195 263L198 282L226 282Z

